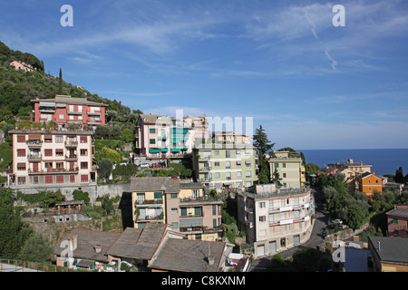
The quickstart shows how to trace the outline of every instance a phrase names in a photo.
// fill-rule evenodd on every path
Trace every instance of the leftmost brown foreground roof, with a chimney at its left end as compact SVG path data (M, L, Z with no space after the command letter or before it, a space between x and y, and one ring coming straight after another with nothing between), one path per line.
M77 235L77 248L73 250L73 257L104 263L109 262L108 256L105 255L105 252L112 246L114 241L121 236L120 233L74 228L53 247L54 254L57 256L63 256L63 253L66 252L68 247L66 241L74 235ZM94 247L96 245L101 246L101 253L95 252Z

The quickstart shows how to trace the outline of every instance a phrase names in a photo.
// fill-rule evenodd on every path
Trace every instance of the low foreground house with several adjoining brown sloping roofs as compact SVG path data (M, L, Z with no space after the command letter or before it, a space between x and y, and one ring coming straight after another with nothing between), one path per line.
M54 246L54 254L57 266L73 269L113 271L109 266L115 265L119 271L121 263L129 263L151 272L217 272L235 263L239 271L248 270L248 256L231 256L232 248L227 242L186 239L170 225L147 223L122 233L73 229Z

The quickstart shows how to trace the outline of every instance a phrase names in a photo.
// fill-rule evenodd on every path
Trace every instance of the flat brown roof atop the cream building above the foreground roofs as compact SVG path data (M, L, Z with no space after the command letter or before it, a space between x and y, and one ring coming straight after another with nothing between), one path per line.
M179 193L180 179L171 177L132 178L130 191L164 191L164 193Z

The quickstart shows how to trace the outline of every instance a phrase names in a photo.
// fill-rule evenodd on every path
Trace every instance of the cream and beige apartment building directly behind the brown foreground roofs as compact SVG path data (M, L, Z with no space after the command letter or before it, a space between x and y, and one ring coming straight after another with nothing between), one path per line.
M131 192L134 227L166 223L189 239L219 239L222 201L206 195L201 183L177 177L133 178Z

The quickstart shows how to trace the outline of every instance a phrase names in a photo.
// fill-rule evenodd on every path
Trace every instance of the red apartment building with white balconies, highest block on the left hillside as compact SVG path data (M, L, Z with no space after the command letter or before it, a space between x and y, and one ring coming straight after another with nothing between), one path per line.
M67 124L98 126L105 125L107 104L91 102L70 95L55 95L53 99L31 100L34 102L34 121L53 121L60 128Z

